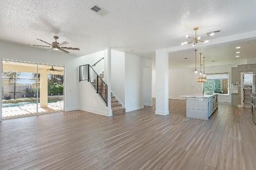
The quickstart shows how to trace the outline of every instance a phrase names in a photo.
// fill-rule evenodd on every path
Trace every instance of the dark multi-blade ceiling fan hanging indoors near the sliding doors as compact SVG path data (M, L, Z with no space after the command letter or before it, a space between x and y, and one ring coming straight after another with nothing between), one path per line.
M57 39L59 38L58 36L53 36L53 38L55 39L55 41L52 42L52 44L44 41L44 40L41 40L41 39L38 39L39 41L41 42L44 42L48 45L51 45L51 46L46 46L46 45L34 45L34 46L44 46L44 47L51 47L50 49L48 49L46 52L50 52L52 50L59 50L61 52L64 52L64 53L69 53L67 50L78 50L79 51L79 48L72 48L72 47L66 47L66 46L63 46L63 45L67 45L69 44L67 41L63 41L61 43L58 43L57 42ZM67 49L67 50L64 50L64 49Z

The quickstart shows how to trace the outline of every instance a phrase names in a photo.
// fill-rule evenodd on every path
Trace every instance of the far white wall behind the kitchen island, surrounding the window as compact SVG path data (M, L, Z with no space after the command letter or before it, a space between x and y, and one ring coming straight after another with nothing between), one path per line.
M220 65L205 67L206 74L214 73L229 73L229 81L231 81L231 67L237 65ZM155 68L152 69L152 91L153 98L155 97ZM194 68L186 69L170 69L169 68L169 98L170 99L184 99L181 95L193 94L202 92L202 83L197 83L197 77L194 75ZM231 103L231 94L220 94L219 102Z

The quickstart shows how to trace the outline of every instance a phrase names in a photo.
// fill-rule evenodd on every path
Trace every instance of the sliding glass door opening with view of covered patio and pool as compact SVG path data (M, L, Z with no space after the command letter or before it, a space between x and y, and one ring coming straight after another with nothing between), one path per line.
M64 67L3 61L2 118L63 111Z

